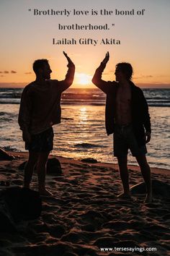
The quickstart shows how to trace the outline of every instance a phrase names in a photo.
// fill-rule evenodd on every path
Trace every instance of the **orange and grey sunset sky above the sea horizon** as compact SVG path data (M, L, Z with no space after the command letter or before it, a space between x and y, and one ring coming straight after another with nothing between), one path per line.
M66 9L71 13L68 17L35 16L34 9ZM73 16L73 9L89 11L89 14ZM91 15L91 9L98 15ZM101 9L113 14L101 15ZM134 11L134 15L115 15L115 9ZM138 15L137 12L143 9L143 15ZM63 80L67 70L63 51L76 64L73 87L92 87L91 77L109 51L104 80L115 80L115 64L127 61L133 65L133 82L136 84L170 88L169 11L169 0L0 0L0 87L24 86L35 80L32 72L35 59L48 59L53 70L51 78ZM58 30L58 24L107 24L109 30L63 31ZM53 38L73 38L77 44L53 45ZM98 43L96 46L80 45L79 38L98 40ZM120 45L101 45L102 38L120 40Z

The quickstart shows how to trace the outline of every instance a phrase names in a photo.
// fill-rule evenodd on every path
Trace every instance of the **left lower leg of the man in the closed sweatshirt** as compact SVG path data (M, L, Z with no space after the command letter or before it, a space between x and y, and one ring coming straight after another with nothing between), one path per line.
M37 163L38 153L29 152L27 165L24 168L24 187L30 188L32 174Z

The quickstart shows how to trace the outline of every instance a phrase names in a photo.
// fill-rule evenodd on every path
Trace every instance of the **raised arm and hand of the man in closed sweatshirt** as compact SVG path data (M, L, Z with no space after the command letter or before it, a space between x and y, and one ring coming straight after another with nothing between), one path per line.
M68 65L67 65L68 72L66 74L65 80L59 82L61 92L68 89L72 85L73 77L74 77L74 73L75 73L75 65L73 64L71 59L68 57L68 55L65 53L65 51L63 51L63 54L64 54L64 56L66 56L66 59L68 61Z

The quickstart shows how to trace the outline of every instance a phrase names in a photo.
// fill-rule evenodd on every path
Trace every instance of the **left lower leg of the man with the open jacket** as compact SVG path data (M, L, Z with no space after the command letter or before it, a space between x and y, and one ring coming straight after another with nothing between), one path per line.
M122 186L124 192L119 197L130 198L130 188L129 188L129 174L127 166L127 155L122 157L117 157L117 161L120 168L120 178L122 179Z

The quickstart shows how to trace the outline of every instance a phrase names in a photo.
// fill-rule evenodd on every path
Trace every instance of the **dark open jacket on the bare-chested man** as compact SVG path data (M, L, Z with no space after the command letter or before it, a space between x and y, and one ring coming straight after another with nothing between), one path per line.
M105 108L105 126L107 130L107 135L114 133L115 129L115 110L116 110L116 95L117 88L119 86L118 82L115 81L104 81L102 80L102 72L105 68L105 64L100 64L92 82L94 85L106 93L106 108ZM130 81L131 87L131 114L133 122L133 132L135 134L138 145L145 145L144 135L146 132L151 132L151 119L148 112L148 103L143 95L143 91L134 85Z

